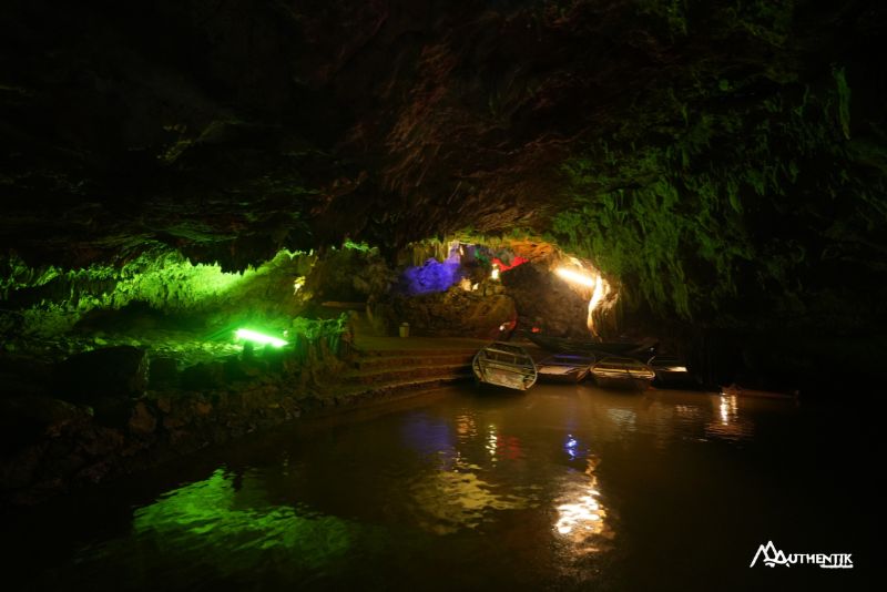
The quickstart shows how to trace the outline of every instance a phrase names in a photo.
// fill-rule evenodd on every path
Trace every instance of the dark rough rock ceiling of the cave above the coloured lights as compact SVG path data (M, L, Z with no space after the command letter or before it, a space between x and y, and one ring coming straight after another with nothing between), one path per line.
M884 32L865 1L8 1L0 247L243 268L519 228L628 241L641 280L639 236L725 289L771 255L884 274Z

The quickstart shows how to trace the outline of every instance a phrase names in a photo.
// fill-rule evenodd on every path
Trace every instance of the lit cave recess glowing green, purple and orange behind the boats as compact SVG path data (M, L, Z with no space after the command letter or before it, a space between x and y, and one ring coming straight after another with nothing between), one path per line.
M616 294L591 263L528 239L418 242L390 259L348 242L323 253L282 251L243 272L169 248L116 268L18 261L6 285L3 349L9 368L131 346L185 370L241 351L243 330L303 346L327 334L396 336L404 323L425 337L492 340L507 327L600 340L599 330L616 337Z

